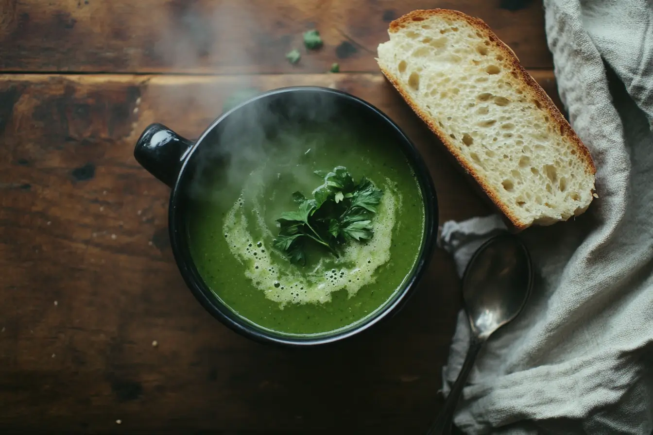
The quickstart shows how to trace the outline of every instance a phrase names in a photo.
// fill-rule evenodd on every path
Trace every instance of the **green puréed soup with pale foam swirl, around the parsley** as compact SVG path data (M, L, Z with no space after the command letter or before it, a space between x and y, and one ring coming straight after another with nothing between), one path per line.
M381 132L347 125L304 125L256 144L236 136L221 164L200 168L188 208L191 256L215 296L282 335L347 328L389 303L424 238L422 192L399 147ZM335 166L383 190L374 235L347 244L340 258L308 245L306 265L291 264L272 248L276 219L296 209L293 192L311 196L322 183L314 171Z

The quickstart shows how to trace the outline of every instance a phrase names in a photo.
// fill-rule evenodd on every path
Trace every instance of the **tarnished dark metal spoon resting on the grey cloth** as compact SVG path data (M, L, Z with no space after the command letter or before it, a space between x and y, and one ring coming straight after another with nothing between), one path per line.
M476 355L494 331L517 317L532 286L530 255L515 235L502 233L492 237L471 257L462 278L462 297L471 326L470 349L427 435L451 434L453 413Z

